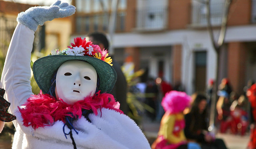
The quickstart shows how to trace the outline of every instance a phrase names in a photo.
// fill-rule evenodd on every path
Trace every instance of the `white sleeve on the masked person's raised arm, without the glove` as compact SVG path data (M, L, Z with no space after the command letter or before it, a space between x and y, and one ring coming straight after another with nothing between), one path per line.
M14 115L17 106L24 104L33 94L29 79L34 33L27 26L18 23L4 62L1 82L6 90L5 99L11 103L9 112Z

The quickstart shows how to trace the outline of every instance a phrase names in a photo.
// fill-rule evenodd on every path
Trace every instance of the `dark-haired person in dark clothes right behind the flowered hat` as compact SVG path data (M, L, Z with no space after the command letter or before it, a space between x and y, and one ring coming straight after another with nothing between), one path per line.
M101 49L108 50L109 42L104 33L94 32L87 35L86 39L93 42L93 44L97 44ZM121 70L121 66L114 59L114 55L111 55L113 68L117 73L116 84L114 85L110 94L112 94L116 101L120 103L120 110L124 112L124 114L128 114L128 105L126 102L126 94L127 94L127 82L126 78Z

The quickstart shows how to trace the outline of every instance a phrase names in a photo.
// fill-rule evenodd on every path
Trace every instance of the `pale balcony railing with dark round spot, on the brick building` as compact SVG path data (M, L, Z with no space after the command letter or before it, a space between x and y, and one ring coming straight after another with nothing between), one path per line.
M136 30L164 30L167 27L168 9L146 8L137 10Z

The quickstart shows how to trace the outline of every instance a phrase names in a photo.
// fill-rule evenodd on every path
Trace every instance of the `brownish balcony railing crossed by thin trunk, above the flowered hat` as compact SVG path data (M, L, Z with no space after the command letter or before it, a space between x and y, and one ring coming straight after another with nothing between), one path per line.
M75 32L107 32L109 25L109 13L80 14L75 16ZM123 32L125 29L126 12L117 12L115 21L116 32Z

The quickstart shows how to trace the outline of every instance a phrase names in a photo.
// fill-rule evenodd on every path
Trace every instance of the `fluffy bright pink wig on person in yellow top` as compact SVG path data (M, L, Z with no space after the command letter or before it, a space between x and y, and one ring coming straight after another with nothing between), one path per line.
M164 108L164 111L169 111L170 113L179 113L182 112L186 107L189 106L190 96L185 92L181 91L170 91L166 93L161 105Z

